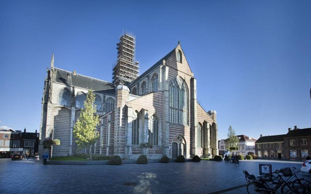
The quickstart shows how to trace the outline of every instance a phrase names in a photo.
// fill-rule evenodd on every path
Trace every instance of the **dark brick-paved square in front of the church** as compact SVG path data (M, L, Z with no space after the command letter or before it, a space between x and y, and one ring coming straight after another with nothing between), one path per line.
M258 164L150 163L147 165L42 165L33 159L0 160L0 193L211 193L246 184L243 170L258 174ZM299 163L270 163L272 169ZM301 175L311 179L309 174ZM125 185L126 183L129 184ZM246 193L246 187L226 193Z

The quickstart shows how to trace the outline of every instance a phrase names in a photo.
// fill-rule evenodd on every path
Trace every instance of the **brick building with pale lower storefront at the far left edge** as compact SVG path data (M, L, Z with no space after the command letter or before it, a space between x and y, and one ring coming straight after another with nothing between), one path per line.
M13 129L0 129L0 158L9 158L12 154L20 153L21 131Z

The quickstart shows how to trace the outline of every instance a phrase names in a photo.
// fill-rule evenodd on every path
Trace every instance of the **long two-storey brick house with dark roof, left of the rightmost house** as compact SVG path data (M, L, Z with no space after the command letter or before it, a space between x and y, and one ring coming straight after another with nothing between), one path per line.
M259 158L284 159L284 137L285 134L270 136L260 135L260 138L255 142L255 154Z

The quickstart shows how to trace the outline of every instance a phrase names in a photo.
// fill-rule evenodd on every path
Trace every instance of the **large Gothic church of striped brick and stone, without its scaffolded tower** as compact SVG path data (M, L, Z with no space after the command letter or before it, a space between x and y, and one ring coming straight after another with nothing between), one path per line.
M127 85L114 85L53 66L44 82L41 142L58 138L53 156L74 155L73 126L79 118L88 89L95 94L100 138L91 152L137 159L163 155L186 158L218 155L216 111L197 103L196 79L180 44ZM152 149L141 149L149 142ZM45 150L39 147L39 152Z

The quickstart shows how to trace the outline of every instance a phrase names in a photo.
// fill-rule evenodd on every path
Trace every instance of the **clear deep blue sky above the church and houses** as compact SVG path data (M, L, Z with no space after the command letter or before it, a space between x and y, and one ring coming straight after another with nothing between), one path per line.
M253 138L311 127L310 1L1 1L0 126L35 131L55 66L111 81L116 43L137 36L141 73L178 40L197 99ZM3 127L4 126L4 127Z

